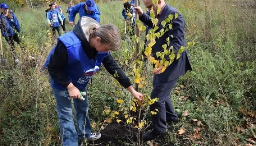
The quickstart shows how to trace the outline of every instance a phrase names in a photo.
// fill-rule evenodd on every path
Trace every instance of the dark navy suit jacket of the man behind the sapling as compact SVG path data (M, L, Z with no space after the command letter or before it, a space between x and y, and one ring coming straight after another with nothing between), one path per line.
M175 19L175 12L178 13L178 17ZM159 32L161 29L163 29L163 26L161 25L161 21L165 20L170 14L173 15L172 19L172 29L166 32L163 36L161 36L159 39L156 38L156 44L152 47L152 53L153 57L155 59L159 59L156 56L156 52L163 51L162 45L166 44L166 38L170 38L170 45L167 48L170 48L170 46L173 46L173 50L176 52L179 51L181 46L186 47L186 41L185 41L185 22L183 19L182 14L176 9L168 4L164 7L160 17L157 26L159 27L156 32ZM151 17L147 15L146 13L143 13L139 20L145 23L149 28L153 27L153 23L151 21ZM166 26L169 24L166 23ZM173 35L173 38L171 37ZM176 58L176 57L175 57ZM184 75L188 70L192 71L192 67L190 64L190 60L188 57L188 50L185 49L183 53L181 53L181 57L178 60L174 60L170 66L166 68L166 70L158 76L159 80L162 82L169 82L173 81L180 76Z

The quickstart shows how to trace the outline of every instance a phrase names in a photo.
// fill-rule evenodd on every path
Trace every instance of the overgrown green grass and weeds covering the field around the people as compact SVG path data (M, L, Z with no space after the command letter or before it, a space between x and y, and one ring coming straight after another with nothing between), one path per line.
M182 115L180 123L168 125L167 133L152 145L255 145L255 3L237 0L172 0L167 3L181 10L186 21L186 41L196 42L188 50L193 71L180 77L171 93L175 111L183 114L188 110L189 115ZM123 35L122 2L98 3L98 6L102 13L101 24L114 23ZM67 6L62 4L62 7L65 10ZM40 70L56 42L47 35L50 30L45 20L46 8L15 9L25 31L25 55L36 56L38 60L32 62L20 54L21 66L0 70L0 145L61 144L55 99L47 72ZM72 29L68 22L66 26L67 30ZM131 81L132 43L122 41L122 49L112 52ZM11 65L9 46L4 40L3 49ZM16 49L20 51L18 45ZM152 90L151 70L149 68L147 94ZM120 95L116 91L120 91ZM114 78L104 68L94 77L93 84L88 85L88 92L93 131L102 133L102 138L94 144L134 145L131 137L136 135L126 132L127 125L115 121L103 124L107 118L103 112L105 106L118 109L117 99L128 104L132 96L116 87ZM149 117L150 113L147 121ZM185 131L183 134L179 134L181 129Z

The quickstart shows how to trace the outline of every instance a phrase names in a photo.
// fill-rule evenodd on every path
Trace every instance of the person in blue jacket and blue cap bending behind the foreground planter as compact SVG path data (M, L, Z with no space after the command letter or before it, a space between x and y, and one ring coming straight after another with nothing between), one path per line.
M91 17L100 23L100 10L93 0L87 0L85 3L79 3L72 7L69 14L69 24L74 26L75 15L79 13L79 17Z

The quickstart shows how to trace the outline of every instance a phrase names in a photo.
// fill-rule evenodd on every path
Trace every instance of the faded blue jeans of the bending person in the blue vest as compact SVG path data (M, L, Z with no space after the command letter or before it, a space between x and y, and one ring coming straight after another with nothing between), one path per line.
M89 103L87 89L84 90L86 92L86 96L84 96L84 101L80 99L73 99L75 107L77 133L73 121L72 104L70 97L66 97L65 91L58 90L53 86L52 91L55 96L58 110L62 144L63 146L77 146L78 138L81 139L84 136L88 139L91 135L91 125L88 115Z

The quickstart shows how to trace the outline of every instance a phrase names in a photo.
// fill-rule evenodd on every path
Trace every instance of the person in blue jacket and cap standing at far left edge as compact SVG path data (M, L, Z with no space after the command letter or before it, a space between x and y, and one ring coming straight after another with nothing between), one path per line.
M13 12L9 11L8 5L6 3L2 3L0 5L1 8L1 15L0 15L0 29L1 34L11 46L11 54L13 56L14 62L19 62L17 55L15 53L15 46L14 41L18 44L21 43L20 38L18 37L17 33L20 33L20 22L17 17L14 15ZM22 31L23 33L23 31ZM22 51L24 51L24 47L21 47Z

